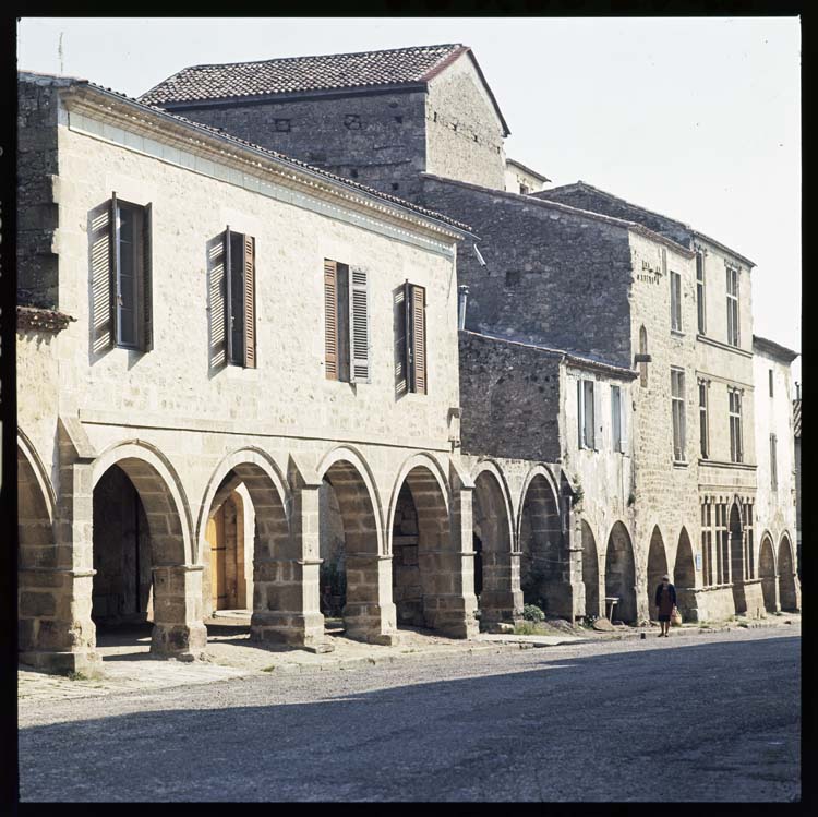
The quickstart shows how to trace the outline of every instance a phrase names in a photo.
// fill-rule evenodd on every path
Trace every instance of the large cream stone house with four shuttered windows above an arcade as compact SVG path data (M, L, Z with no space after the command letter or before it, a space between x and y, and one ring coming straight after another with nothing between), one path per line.
M134 618L194 658L243 604L322 649L322 495L350 636L393 641L393 598L476 632L466 226L85 81L19 88L21 660L81 669Z

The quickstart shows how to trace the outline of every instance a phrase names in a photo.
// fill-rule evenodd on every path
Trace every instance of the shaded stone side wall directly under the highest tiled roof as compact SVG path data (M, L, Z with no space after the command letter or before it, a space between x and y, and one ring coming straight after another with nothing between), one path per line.
M315 94L253 104L173 107L262 147L414 199L425 169L425 93Z

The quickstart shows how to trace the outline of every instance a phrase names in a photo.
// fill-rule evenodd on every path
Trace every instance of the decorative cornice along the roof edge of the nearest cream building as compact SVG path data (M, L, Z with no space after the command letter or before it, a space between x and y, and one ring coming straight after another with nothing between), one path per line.
M294 192L323 199L335 206L357 211L369 218L386 221L393 227L416 236L422 233L426 237L434 237L437 242L445 237L450 243L471 236L467 229L449 226L436 220L433 216L416 214L409 207L393 205L374 194L369 195L351 184L347 185L342 180L335 181L317 170L313 171L306 167L301 168L290 164L264 148L238 143L229 134L221 136L205 128L199 128L194 122L180 121L171 113L147 109L144 105L131 101L113 92L80 84L62 91L61 98L69 115L80 113L137 136L184 149L239 172L262 178L265 181L270 180ZM71 128L70 119L69 128Z

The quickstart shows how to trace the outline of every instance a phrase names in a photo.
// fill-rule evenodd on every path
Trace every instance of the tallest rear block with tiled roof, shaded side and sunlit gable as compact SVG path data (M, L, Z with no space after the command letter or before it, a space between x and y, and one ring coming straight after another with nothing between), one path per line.
M424 170L505 187L508 127L462 45L195 65L142 100L409 200Z

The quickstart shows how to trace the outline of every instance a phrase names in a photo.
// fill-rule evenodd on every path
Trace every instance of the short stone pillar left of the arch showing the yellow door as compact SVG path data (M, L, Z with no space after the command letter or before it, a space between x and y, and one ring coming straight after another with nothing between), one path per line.
M207 646L202 618L203 565L159 565L154 575L154 630L151 653L193 661Z

